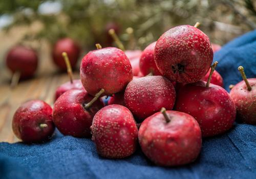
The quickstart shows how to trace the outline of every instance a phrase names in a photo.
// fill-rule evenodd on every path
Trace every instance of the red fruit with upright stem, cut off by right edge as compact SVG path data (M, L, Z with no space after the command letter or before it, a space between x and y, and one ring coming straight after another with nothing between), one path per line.
M248 78L251 91L244 81L240 81L230 91L230 96L237 107L237 117L247 124L256 124L256 78Z

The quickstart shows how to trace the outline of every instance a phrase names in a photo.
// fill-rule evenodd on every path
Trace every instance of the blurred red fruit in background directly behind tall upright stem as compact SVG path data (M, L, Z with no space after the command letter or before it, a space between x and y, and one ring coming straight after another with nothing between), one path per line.
M80 47L73 39L62 38L54 44L52 58L58 68L64 71L67 70L67 66L65 60L62 57L62 52L67 52L70 64L72 68L75 68L80 55L80 51Z

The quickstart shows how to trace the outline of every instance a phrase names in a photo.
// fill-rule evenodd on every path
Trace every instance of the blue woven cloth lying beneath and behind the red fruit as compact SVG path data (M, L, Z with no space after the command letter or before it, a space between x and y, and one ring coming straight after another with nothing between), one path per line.
M237 84L243 65L256 76L256 30L215 53L225 89ZM198 159L165 168L151 163L138 149L121 160L101 158L90 139L62 136L42 144L0 143L0 178L256 178L256 126L236 123L223 135L203 139Z

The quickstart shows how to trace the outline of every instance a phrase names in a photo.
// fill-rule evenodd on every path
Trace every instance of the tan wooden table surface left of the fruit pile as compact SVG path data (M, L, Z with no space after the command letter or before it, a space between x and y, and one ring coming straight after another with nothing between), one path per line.
M20 81L14 88L10 88L11 73L6 68L5 56L8 50L17 43L23 36L24 29L18 29L9 32L6 35L0 32L0 142L17 142L19 141L12 131L12 117L15 110L25 101L30 99L44 100L51 106L54 102L54 93L58 85L69 80L66 73L59 73L56 66L52 62L50 55L50 46L46 41L39 43L38 57L39 64L35 76L29 80ZM15 36L15 38L13 37ZM14 40L9 40L9 39ZM83 56L81 54L81 56ZM77 63L77 69L80 64ZM74 73L74 78L79 78L79 73Z

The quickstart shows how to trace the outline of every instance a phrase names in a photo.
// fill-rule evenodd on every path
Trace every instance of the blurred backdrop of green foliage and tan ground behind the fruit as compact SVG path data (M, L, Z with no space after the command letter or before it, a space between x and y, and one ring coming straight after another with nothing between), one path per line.
M16 44L38 53L36 76L58 72L52 62L53 44L70 37L81 47L81 57L95 49L115 46L108 30L116 30L126 49L145 48L166 30L177 25L199 27L211 42L225 44L256 29L256 1L253 0L2 0L0 1L0 82L9 83L5 58ZM134 29L133 37L126 29ZM77 62L77 69L80 61ZM47 70L46 70L47 69Z

